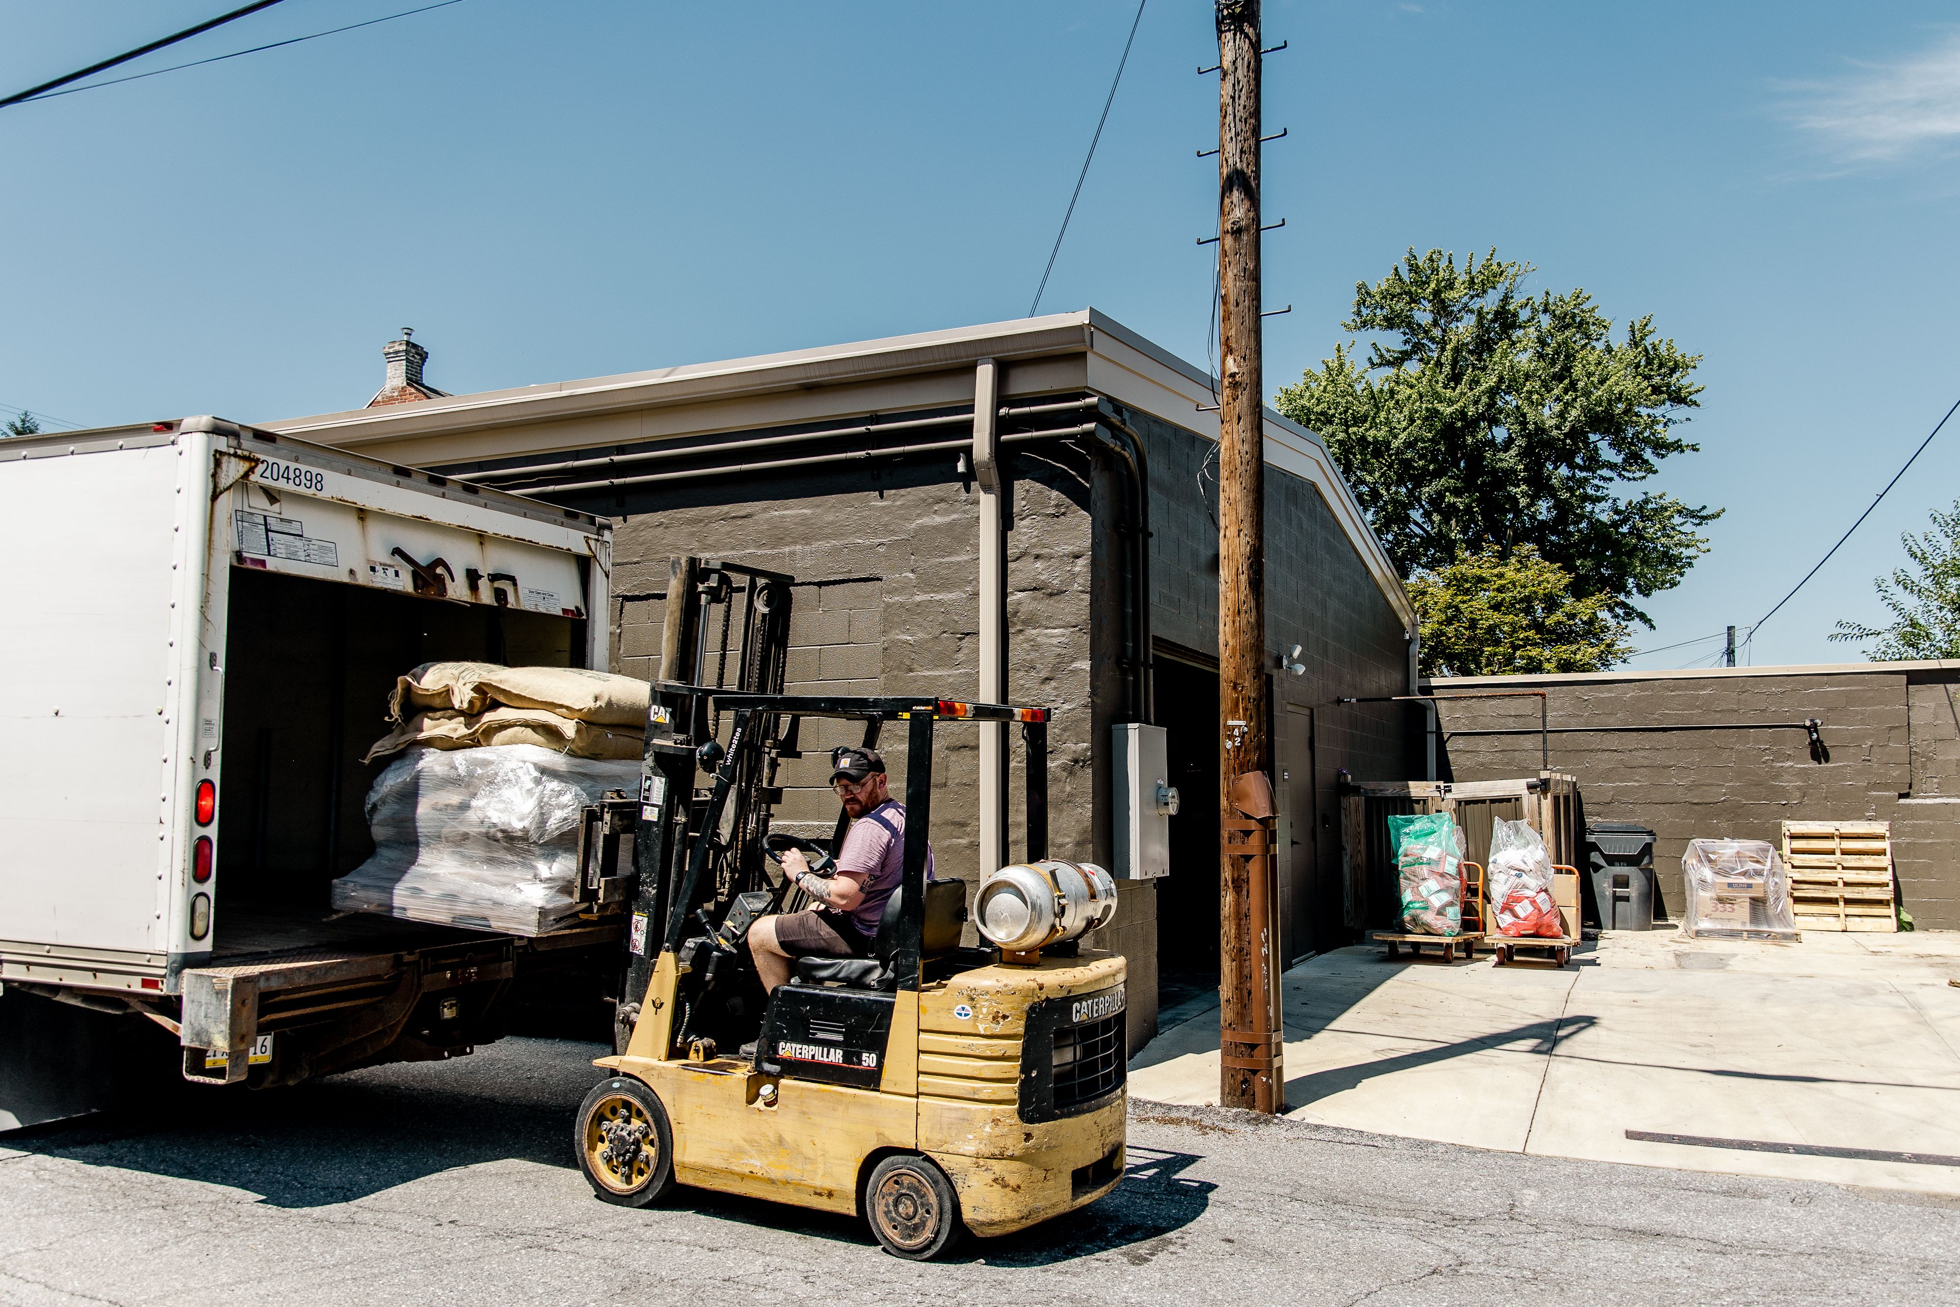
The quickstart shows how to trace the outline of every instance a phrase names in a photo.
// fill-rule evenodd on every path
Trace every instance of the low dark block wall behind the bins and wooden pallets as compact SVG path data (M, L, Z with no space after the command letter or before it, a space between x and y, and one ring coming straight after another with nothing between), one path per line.
M1439 678L1425 692L1544 690L1554 770L1580 778L1590 821L1656 831L1654 870L1682 909L1690 839L1780 839L1784 821L1889 821L1899 899L1919 929L1960 929L1960 662ZM1535 700L1437 705L1443 780L1535 776ZM1793 727L1621 731L1629 725L1821 721L1829 762ZM1519 735L1452 731L1519 729Z

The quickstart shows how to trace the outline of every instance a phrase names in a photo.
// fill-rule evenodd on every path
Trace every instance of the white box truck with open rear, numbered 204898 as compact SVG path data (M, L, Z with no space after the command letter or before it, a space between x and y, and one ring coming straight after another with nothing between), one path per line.
M394 678L606 668L612 529L214 417L0 441L0 1129L445 1058L537 939L335 913Z

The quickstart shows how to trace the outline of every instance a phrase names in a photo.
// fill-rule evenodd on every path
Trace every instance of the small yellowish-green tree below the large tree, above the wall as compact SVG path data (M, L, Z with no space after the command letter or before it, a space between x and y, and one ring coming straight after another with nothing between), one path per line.
M1599 672L1633 653L1613 596L1572 594L1572 574L1531 545L1495 545L1409 578L1423 676Z

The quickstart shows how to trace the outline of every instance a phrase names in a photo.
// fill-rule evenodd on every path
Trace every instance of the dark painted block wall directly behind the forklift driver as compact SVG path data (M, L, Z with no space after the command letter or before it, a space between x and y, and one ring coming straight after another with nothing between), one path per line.
M1096 496L1090 459L1066 447L1011 453L1007 535L1009 698L1054 711L1049 727L1049 850L1109 860L1105 749L1113 721L1107 621L1098 594L1115 582L1092 547ZM572 504L566 498L566 504ZM692 482L610 504L613 541L613 649L629 676L655 674L668 558L698 555L747 562L796 578L788 692L974 696L978 654L978 492L955 476L953 459L923 464L843 462L817 476L745 476ZM1100 635L1098 635L1100 633ZM1094 682L1094 684L1092 684ZM1103 686L1098 690L1098 686ZM978 731L943 725L933 776L933 856L941 876L980 878ZM1025 839L1023 752L1009 727L1009 850ZM906 770L902 723L884 735L892 786ZM857 743L855 727L806 731L806 750ZM829 833L837 813L823 758L784 764L780 825ZM1092 941L1131 966L1131 1042L1156 1029L1156 917L1149 884L1119 884L1115 919ZM968 927L968 933L972 927Z

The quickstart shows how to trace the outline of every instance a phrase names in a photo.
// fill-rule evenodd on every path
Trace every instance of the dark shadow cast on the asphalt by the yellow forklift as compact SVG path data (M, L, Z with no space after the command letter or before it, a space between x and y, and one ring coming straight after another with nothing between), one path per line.
M1131 1264L1143 1266L1162 1248L1151 1242L1178 1231L1203 1215L1209 1193L1217 1186L1205 1180L1186 1180L1178 1172L1201 1162L1190 1152L1162 1152L1156 1148L1131 1148L1129 1166L1107 1197L1084 1209L1094 1213L1092 1221L1082 1221L1080 1213L1043 1221L1017 1234L1000 1238L970 1238L949 1254L947 1262L986 1262L988 1266L1054 1266L1096 1256L1098 1252L1123 1250ZM682 1186L668 1197L662 1211L688 1211L702 1217L735 1221L739 1225L770 1227L790 1231L808 1238L823 1238L839 1244L876 1248L864 1221L808 1207L786 1207L759 1197L737 1197Z

